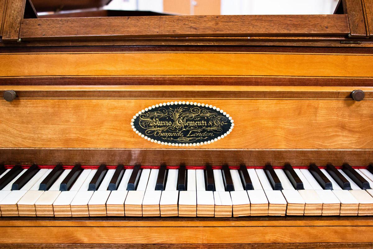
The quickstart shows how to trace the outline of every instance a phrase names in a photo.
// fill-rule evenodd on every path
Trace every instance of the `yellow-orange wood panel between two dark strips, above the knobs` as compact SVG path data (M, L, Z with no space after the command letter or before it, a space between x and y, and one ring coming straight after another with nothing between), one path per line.
M30 19L31 20L31 19ZM245 76L372 78L372 54L29 53L0 54L5 77Z

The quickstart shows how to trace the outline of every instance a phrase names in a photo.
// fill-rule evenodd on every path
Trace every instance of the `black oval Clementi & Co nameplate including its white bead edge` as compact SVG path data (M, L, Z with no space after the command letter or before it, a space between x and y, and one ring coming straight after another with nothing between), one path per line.
M233 119L223 110L196 102L168 102L136 113L132 129L148 141L173 146L210 144L231 133Z

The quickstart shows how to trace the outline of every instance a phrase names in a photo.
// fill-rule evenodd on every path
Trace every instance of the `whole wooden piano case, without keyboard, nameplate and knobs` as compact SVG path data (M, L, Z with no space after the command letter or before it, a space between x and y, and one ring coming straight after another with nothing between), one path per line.
M198 16L188 27L173 17L24 19L24 1L0 3L0 94L16 93L0 101L0 163L373 163L369 1L346 0L341 15L260 24ZM154 26L139 28L144 20ZM167 102L223 109L234 129L200 146L139 136L133 116ZM0 247L370 248L372 225L372 217L0 217Z

